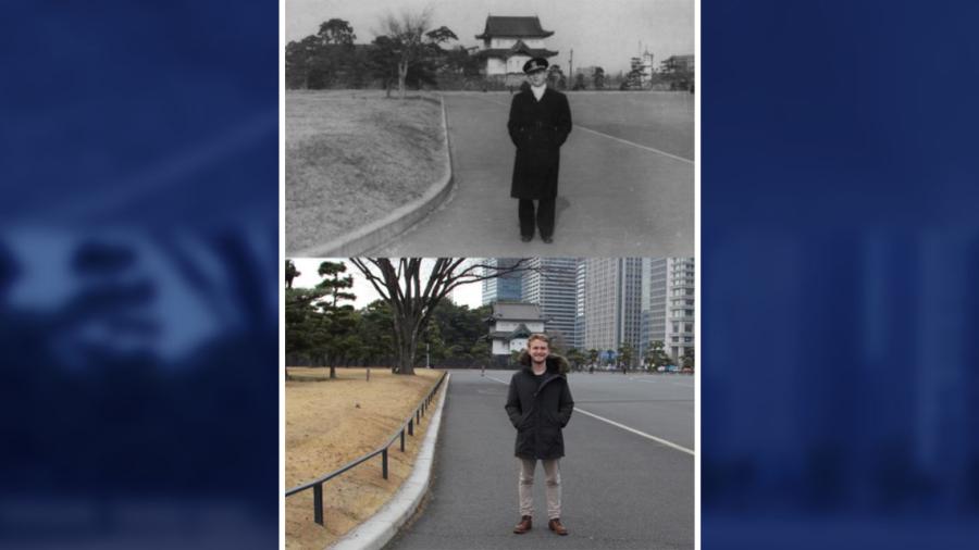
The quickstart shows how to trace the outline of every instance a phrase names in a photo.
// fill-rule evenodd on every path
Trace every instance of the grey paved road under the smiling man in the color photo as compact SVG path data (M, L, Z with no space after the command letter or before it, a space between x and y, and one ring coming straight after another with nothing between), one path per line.
M533 530L518 520L516 434L504 412L511 372L454 371L426 502L386 547L427 549L691 549L694 458L577 411L565 430L562 520L547 530L543 483L535 484ZM496 378L496 379L494 379ZM639 377L636 377L639 378ZM692 378L658 376L662 380ZM623 375L571 375L575 404L652 436L692 448L693 387ZM690 446L685 443L691 443ZM542 468L537 476L543 480Z

